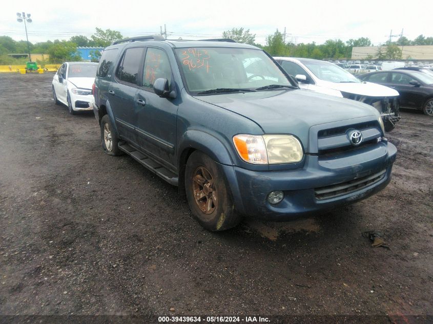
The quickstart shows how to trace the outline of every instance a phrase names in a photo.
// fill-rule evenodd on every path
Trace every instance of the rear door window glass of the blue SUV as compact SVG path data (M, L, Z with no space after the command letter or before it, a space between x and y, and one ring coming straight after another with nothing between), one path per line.
M117 70L117 78L119 78L119 80L138 85L140 63L144 53L145 48L143 47L127 49Z

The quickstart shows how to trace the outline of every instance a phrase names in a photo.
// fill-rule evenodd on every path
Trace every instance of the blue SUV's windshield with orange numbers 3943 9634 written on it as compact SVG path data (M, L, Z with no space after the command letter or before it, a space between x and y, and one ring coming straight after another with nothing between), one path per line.
M239 48L181 48L175 50L188 90L255 90L267 85L293 87L269 56L261 50ZM270 89L259 89L267 91Z

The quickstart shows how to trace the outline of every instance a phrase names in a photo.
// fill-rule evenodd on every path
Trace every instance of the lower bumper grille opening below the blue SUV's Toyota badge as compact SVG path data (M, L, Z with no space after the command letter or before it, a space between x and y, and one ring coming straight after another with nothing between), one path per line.
M377 174L333 184L331 186L321 187L314 189L314 193L317 200L329 199L346 195L347 193L354 192L372 185L385 177L386 169Z

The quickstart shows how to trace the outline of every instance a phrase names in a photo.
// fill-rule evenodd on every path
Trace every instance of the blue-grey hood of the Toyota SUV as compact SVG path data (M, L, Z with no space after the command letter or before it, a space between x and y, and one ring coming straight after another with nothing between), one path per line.
M302 89L195 98L249 118L267 134L293 134L302 141L307 139L313 125L379 116L376 109L367 104Z

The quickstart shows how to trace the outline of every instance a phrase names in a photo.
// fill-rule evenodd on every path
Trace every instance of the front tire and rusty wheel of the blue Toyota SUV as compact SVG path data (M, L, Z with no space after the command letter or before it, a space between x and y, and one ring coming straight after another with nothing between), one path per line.
M209 156L199 151L188 159L185 191L193 216L205 229L222 231L241 221L222 171ZM199 195L202 197L197 198Z

